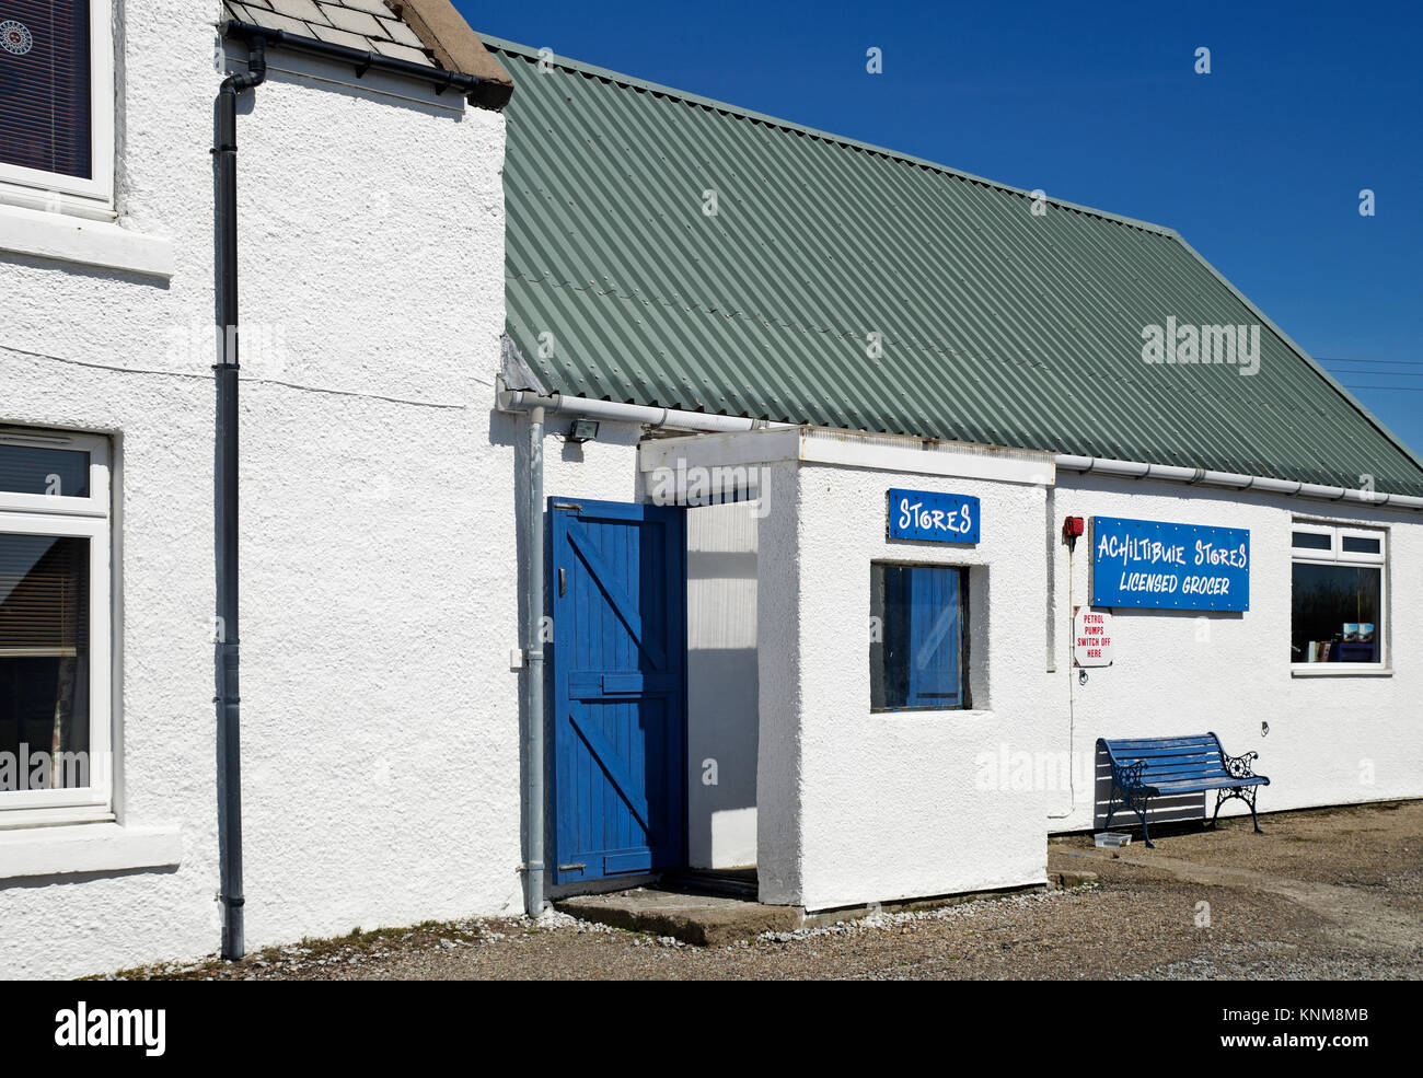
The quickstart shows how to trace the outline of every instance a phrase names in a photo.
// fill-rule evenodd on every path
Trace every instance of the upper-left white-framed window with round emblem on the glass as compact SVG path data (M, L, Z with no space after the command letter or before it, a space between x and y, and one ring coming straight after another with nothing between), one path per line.
M0 198L108 208L114 98L110 0L0 0Z

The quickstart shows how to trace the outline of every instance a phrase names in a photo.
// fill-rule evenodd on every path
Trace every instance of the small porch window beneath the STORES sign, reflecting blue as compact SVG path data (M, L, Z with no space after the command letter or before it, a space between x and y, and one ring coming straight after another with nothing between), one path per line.
M966 708L968 572L869 566L872 711Z

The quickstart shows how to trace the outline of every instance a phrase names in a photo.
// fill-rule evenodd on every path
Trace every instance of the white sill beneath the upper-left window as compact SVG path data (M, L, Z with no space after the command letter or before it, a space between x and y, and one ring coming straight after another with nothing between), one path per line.
M145 236L105 220L0 205L0 250L34 255L168 280L172 240Z

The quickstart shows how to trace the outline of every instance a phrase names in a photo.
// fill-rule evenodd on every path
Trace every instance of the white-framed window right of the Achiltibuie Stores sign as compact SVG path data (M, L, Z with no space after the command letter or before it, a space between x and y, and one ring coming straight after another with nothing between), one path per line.
M1296 522L1291 663L1383 661L1385 533Z

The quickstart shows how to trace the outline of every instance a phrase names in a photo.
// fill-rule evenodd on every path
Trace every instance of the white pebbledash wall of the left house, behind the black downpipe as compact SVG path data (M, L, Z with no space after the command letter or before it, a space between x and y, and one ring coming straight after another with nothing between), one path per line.
M0 815L11 977L219 940L219 9L120 9L120 220L85 228L122 229L141 257L101 269L0 243L0 422L115 449L117 826L31 875L36 843L74 829ZM504 118L272 50L238 139L248 944L499 912L521 856L512 424L491 424ZM7 238L20 219L0 220Z

